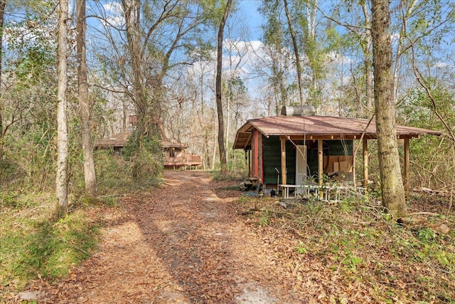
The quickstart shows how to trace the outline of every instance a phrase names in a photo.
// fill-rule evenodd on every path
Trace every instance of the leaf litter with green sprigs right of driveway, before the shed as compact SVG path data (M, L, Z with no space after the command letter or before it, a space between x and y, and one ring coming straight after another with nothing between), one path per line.
M316 290L314 298L333 303L455 301L454 216L428 212L411 216L418 221L397 224L373 199L355 197L287 208L267 197L242 196L239 203L247 209L247 221L292 265L294 288Z

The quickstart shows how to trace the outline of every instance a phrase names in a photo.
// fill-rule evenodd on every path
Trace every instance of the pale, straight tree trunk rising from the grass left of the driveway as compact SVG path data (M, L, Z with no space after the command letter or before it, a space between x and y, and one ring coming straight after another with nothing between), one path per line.
M58 91L57 91L57 176L55 194L58 205L55 219L68 213L68 125L66 117L68 88L67 74L67 34L68 0L59 0L58 19Z

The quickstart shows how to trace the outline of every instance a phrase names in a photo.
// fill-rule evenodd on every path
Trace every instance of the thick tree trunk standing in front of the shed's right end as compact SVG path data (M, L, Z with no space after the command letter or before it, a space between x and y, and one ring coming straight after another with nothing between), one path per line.
M407 211L395 130L389 1L372 0L372 4L373 76L382 205L392 216L400 217Z

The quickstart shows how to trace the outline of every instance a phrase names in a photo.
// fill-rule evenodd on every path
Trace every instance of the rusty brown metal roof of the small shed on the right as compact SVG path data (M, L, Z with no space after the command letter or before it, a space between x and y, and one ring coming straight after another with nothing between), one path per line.
M262 135L288 136L294 140L355 140L360 137L376 139L376 123L360 118L331 116L272 116L248 120L237 130L234 149L248 149L251 145L252 130ZM398 138L412 138L420 135L441 135L442 132L397 125Z

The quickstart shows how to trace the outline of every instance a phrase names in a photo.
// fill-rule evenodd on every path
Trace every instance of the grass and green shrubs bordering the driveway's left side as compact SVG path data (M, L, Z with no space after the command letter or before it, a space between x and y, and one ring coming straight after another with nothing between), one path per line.
M134 157L131 162L97 151L97 199L86 199L83 182L75 178L81 175L70 174L68 215L56 222L51 218L57 200L46 188L37 192L17 180L1 184L0 303L2 295L31 280L66 276L97 247L103 208L116 206L124 193L162 182L162 165L154 154L144 151Z

